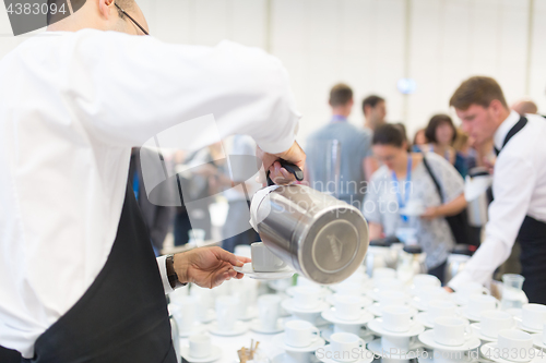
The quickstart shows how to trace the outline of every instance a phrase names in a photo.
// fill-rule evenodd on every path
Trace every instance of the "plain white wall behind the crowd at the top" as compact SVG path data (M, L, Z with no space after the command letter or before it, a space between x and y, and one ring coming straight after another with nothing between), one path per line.
M349 84L352 116L361 99L388 100L388 119L410 135L464 78L496 77L509 102L530 96L546 113L546 0L136 0L154 36L213 46L228 38L281 58L304 113L299 140L329 118L330 87ZM0 57L26 37L11 36L0 11ZM396 81L417 82L413 95Z

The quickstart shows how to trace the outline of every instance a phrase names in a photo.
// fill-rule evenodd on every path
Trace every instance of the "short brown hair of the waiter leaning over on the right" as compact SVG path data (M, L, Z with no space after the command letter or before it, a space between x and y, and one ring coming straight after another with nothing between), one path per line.
M489 107L494 99L508 108L507 100L497 81L491 77L474 76L464 81L449 100L449 106L467 110L472 105Z

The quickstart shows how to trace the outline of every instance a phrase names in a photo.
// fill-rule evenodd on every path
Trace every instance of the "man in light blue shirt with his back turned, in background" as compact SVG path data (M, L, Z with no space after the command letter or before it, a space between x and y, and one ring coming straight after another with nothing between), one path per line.
M377 166L371 154L371 132L361 130L347 121L353 109L353 89L345 84L337 84L330 90L329 105L332 108L330 122L313 132L307 140L307 165L311 186L334 194L340 199L360 207L369 180ZM327 176L332 142L341 145L339 180ZM333 170L331 172L334 172ZM330 183L330 185L329 185ZM331 185L333 184L333 185Z

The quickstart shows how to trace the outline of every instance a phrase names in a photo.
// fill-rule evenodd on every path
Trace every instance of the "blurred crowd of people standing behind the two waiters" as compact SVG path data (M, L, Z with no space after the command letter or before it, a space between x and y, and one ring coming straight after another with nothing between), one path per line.
M476 168L492 170L492 141L476 142L448 113L431 116L408 137L403 122L387 121L388 101L378 95L361 100L357 125L348 121L355 99L346 84L331 88L329 105L328 122L305 143L304 183L358 207L371 240L420 245L429 273L441 279L456 243L479 245L480 228L466 221L464 179ZM537 113L530 99L511 108ZM256 149L251 137L235 135L194 153L161 156L176 178L166 198L175 203L151 202L144 190L140 158L157 150L133 150L129 178L157 254L169 232L175 246L219 239L230 252L260 241L249 225L250 201L262 187ZM216 235L211 210L221 219Z

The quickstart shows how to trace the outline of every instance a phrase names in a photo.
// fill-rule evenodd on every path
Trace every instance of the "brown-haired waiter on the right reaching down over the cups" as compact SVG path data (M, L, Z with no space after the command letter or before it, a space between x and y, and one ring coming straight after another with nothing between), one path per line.
M499 84L485 76L463 82L450 106L476 144L492 140L497 159L485 240L449 287L487 282L518 240L523 291L530 302L546 304L546 122L511 111Z

